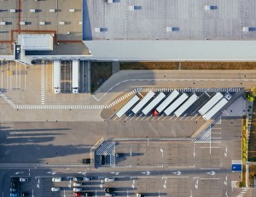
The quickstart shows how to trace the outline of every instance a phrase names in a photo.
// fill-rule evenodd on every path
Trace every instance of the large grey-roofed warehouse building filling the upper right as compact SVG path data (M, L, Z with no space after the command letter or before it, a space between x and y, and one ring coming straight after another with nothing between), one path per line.
M83 42L100 60L256 60L253 0L84 0Z

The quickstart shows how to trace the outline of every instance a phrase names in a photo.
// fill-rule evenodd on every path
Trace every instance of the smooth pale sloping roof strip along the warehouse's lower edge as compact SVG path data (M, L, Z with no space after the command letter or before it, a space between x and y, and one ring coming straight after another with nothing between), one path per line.
M93 59L255 61L256 41L84 41Z

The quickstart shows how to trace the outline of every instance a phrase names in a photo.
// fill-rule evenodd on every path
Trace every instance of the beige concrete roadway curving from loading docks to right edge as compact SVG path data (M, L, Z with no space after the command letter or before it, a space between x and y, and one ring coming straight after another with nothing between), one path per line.
M250 88L256 81L255 70L122 70L104 82L92 96L90 93L55 95L51 88L51 68L52 65L46 62L45 75L42 78L39 65L24 68L23 72L20 72L20 65L9 64L1 67L3 78L0 87L8 97L8 100L0 100L5 111L0 114L2 122L103 121L102 109L115 98L137 87ZM8 70L13 70L18 76L8 75ZM26 75L19 76L19 73ZM44 94L40 91L39 78L44 79L42 82L47 86ZM84 87L85 89L88 87ZM44 97L44 104L41 104L41 97Z

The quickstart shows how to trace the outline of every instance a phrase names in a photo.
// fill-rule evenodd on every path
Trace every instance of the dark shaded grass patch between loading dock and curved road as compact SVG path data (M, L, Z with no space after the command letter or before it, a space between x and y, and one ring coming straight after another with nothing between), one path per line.
M107 81L112 76L111 62L91 62L90 64L90 93L94 93L102 86L102 81Z

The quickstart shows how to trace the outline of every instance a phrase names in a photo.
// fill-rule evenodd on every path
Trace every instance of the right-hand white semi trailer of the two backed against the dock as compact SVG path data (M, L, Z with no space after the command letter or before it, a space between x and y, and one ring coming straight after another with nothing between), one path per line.
M79 60L72 61L72 92L79 93Z

